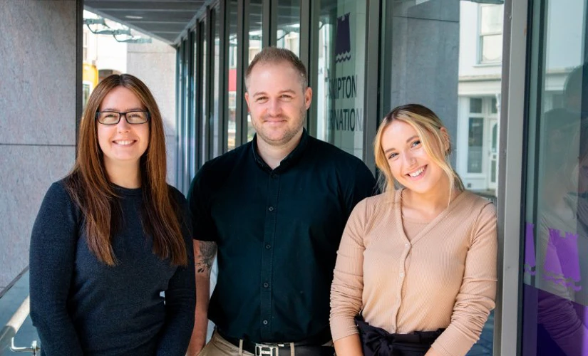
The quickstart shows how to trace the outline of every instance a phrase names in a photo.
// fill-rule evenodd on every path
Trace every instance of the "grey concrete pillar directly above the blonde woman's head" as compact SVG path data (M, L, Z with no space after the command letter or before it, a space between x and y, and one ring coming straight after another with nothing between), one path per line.
M458 130L460 1L389 2L385 46L390 46L390 110L418 103L433 110L453 139ZM389 42L388 42L389 41ZM388 112L383 112L386 115ZM455 162L453 162L455 164Z

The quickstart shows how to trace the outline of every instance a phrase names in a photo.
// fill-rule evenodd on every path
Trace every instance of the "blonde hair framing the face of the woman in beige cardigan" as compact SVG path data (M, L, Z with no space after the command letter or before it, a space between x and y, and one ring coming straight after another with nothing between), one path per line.
M394 108L384 117L380 127L378 127L378 133L373 140L373 155L376 157L376 166L383 173L380 182L382 191L394 192L397 184L382 148L383 132L395 120L405 122L414 128L428 157L447 174L449 178L449 196L452 197L453 189L463 192L465 190L463 182L449 162L452 147L449 135L441 130L443 122L435 115L435 112L418 104L408 104Z

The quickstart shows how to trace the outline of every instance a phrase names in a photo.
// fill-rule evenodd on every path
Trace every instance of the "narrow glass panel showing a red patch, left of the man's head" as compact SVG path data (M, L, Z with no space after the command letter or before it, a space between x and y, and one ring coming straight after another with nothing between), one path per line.
M227 53L227 61L229 61L229 75L227 88L229 91L229 102L227 115L229 122L227 122L227 149L230 151L234 149L234 137L237 127L237 0L227 1L227 42L229 43L229 51Z

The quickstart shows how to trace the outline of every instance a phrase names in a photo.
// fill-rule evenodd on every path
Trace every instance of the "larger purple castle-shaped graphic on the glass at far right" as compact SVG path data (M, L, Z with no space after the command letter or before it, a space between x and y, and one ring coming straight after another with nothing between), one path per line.
M562 236L559 230L550 230L550 241L545 251L545 280L554 281L574 290L582 289L576 283L580 281L578 259L578 235L566 232Z

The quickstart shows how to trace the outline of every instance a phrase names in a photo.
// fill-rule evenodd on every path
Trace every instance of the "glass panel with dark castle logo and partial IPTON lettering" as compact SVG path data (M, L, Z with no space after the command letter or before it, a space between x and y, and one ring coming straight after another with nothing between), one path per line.
M316 136L363 156L366 0L322 1Z

